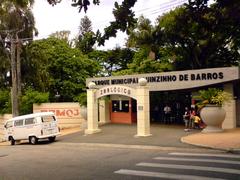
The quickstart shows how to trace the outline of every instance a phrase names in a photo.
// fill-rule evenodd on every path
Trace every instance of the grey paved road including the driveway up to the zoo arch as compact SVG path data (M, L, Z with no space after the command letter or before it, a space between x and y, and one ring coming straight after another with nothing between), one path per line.
M100 134L84 136L80 132L59 137L54 143L0 146L0 180L240 177L236 173L240 169L239 156L182 144L180 138L186 132L181 126L153 127L153 136L147 138L134 137L136 126L109 125L101 129ZM187 152L190 155L176 154Z

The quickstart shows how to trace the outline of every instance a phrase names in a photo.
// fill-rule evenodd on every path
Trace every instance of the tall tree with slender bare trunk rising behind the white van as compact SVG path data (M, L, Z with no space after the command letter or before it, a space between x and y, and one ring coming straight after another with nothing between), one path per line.
M34 17L31 12L32 3L32 0L3 0L0 4L0 39L6 57L11 59L13 116L19 114L22 41L33 37ZM9 55L10 52L11 55Z

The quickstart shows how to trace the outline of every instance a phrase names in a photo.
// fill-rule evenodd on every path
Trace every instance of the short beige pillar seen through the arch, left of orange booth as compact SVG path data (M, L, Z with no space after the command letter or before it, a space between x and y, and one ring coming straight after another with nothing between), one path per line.
M110 122L109 102L106 99L99 99L99 123Z

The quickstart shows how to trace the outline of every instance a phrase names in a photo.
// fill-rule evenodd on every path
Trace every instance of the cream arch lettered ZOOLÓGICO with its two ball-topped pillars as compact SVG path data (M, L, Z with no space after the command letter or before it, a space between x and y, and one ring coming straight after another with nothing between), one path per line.
M85 134L100 132L98 127L98 99L107 95L124 95L137 101L137 134L136 136L151 136L150 133L150 103L149 88L145 78L139 79L138 86L131 88L121 85L110 85L96 89L93 82L87 90L87 129Z

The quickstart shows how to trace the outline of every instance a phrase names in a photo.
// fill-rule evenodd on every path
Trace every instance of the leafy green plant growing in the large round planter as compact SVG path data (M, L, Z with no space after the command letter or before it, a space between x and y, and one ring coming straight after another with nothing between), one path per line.
M194 98L201 100L201 102L197 103L197 106L201 108L207 104L222 106L224 102L231 99L231 95L221 89L208 88L207 90L199 90L199 96Z

